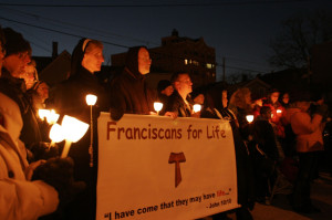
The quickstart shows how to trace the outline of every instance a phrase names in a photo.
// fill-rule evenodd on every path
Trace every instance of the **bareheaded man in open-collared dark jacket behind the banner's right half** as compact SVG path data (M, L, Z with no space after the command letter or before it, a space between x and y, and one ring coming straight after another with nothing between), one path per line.
M175 112L179 117L199 117L199 113L194 113L189 94L193 92L193 82L188 73L175 73L170 82L175 88L169 97L165 111Z

